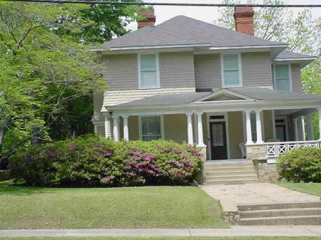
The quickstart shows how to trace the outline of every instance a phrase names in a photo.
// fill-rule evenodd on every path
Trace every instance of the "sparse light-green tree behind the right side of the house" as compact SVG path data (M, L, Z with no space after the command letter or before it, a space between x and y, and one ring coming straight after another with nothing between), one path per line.
M224 3L240 3L224 0ZM248 1L255 4L255 1ZM284 4L282 0L265 0L264 4ZM235 29L234 9L220 9L218 25ZM306 93L321 94L321 18L313 19L310 9L303 9L297 16L287 8L255 8L255 36L269 41L289 43L288 49L297 53L317 56L317 60L302 69L301 79ZM315 139L318 138L315 114Z

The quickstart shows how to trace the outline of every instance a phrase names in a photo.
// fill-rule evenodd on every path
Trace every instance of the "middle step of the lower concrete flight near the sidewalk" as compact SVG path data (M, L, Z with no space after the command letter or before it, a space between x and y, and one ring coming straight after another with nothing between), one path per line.
M240 219L272 216L311 216L321 215L321 208L269 209L239 212Z

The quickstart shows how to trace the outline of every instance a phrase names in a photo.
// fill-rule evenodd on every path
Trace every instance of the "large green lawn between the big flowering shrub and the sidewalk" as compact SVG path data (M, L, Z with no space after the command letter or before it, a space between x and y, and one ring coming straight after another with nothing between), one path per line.
M0 182L0 229L226 228L198 187L40 188Z

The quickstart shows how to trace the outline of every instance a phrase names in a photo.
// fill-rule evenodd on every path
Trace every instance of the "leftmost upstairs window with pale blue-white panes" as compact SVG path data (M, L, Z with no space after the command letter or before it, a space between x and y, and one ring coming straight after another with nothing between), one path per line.
M158 54L138 54L139 88L160 88Z

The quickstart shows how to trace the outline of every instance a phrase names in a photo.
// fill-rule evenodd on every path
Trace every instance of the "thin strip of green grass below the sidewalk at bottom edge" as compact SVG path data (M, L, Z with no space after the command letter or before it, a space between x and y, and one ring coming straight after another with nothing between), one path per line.
M2 238L0 237L0 240ZM233 237L41 237L6 238L6 240L320 240L321 236L233 236Z

